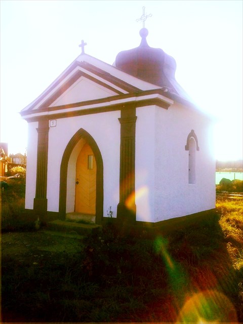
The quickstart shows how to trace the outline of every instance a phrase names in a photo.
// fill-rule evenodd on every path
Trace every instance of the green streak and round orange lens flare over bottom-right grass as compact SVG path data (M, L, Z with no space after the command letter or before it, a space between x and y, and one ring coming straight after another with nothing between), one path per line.
M165 263L169 289L173 296L172 306L178 314L176 323L237 323L235 308L220 292L222 284L210 269L194 274L195 278L198 275L198 283L195 282L195 278L190 278L188 271L183 268L183 262L179 263L172 258L168 246L167 238L156 237L154 248Z

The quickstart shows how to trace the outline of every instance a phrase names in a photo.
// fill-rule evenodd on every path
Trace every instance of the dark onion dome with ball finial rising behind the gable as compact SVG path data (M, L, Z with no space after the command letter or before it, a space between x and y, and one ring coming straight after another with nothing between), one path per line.
M114 66L144 81L165 88L170 93L187 98L187 94L175 79L176 61L161 49L147 44L148 30L140 30L141 44L117 54Z

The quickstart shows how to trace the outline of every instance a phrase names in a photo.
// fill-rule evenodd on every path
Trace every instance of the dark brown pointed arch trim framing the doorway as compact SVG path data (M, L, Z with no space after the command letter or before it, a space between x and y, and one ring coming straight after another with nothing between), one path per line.
M98 145L93 137L84 129L78 130L70 139L62 156L60 168L60 191L59 191L59 215L61 219L66 217L67 198L67 167L72 150L80 139L85 139L92 148L96 159L96 223L101 224L103 218L103 160Z

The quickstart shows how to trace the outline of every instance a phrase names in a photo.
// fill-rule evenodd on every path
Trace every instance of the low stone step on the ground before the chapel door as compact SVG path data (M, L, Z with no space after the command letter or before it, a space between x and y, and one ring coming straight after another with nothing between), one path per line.
M62 220L55 220L48 223L48 230L82 235L98 232L101 227L102 226L96 224L83 224Z

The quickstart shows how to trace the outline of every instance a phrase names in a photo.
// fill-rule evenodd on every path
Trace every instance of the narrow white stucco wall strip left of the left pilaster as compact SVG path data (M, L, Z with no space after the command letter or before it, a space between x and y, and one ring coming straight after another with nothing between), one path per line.
M26 189L25 189L25 208L33 209L35 186L36 186L36 167L37 167L37 140L38 133L37 121L28 123L28 143L26 161Z

